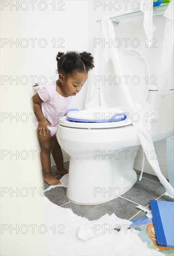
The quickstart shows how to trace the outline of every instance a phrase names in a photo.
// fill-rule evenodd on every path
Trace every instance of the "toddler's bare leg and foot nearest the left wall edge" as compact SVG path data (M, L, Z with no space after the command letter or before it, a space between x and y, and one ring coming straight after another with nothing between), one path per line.
M58 185L61 184L61 182L58 181L53 175L51 171L51 159L50 159L50 154L51 154L51 148L52 148L52 137L50 133L45 133L45 136L39 135L38 131L38 140L39 140L39 145L40 145L40 159L41 159L41 164L42 168L44 169L45 176L44 176L44 181L48 183L49 185Z

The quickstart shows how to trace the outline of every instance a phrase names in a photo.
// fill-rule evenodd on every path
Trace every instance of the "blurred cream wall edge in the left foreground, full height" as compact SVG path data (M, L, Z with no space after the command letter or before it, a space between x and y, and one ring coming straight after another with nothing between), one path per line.
M21 37L21 12L4 8L1 11L1 39ZM44 255L47 254L47 238L38 232L39 225L45 223L44 206L38 193L43 193L43 182L39 159L36 154L32 157L33 150L38 151L37 138L32 132L32 122L21 121L30 112L30 90L29 85L20 82L10 84L12 77L27 74L26 50L10 47L8 43L1 45L0 63L1 255ZM5 75L7 82L3 82ZM20 116L21 113L26 115ZM35 188L33 194L32 188ZM31 224L36 225L34 234Z

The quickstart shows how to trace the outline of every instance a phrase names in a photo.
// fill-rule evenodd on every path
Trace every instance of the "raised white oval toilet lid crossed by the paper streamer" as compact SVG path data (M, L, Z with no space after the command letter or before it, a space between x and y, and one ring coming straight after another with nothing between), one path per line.
M142 106L147 100L149 91L150 73L148 63L144 56L135 49L119 50L118 56L124 75L115 74L113 62L109 58L101 72L103 79L99 85L97 84L100 102L102 106L107 108L116 107L115 103L120 108L126 106L127 102L121 93L121 87L125 84L129 89L132 100Z

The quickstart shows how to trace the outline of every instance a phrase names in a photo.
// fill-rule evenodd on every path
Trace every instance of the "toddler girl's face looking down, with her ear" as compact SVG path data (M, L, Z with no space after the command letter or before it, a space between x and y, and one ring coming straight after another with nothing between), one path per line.
M66 80L63 74L59 74L59 81L61 81L61 91L64 94L63 96L75 96L80 92L87 79L88 73L75 72Z

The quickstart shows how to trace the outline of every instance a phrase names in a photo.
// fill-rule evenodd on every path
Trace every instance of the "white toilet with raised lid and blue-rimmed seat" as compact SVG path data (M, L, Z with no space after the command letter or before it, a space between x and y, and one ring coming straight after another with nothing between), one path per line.
M148 64L138 51L124 49L118 54L124 74L129 78L129 91L134 102L140 107L147 101L159 115L158 119L155 119L155 114L151 115L154 118L152 121L156 121L151 122L148 131L152 140L159 141L173 135L174 90L171 89L165 97L158 95L157 90L150 90L146 80L149 77ZM104 108L98 108L98 111L95 109L92 113L107 119L108 113L125 109L125 102L110 60L106 63L103 75L108 81L100 81L100 86L95 88L98 96L94 99L99 97L101 105L108 108L107 113ZM93 103L96 103L95 100ZM67 117L77 118L83 114L86 119L90 109L85 111L71 111ZM59 121L56 136L61 148L70 155L66 191L68 200L77 204L98 204L110 201L130 189L137 180L133 166L140 141L132 118L135 121L138 116L127 114L125 120L113 122L77 122L69 121L67 117Z

